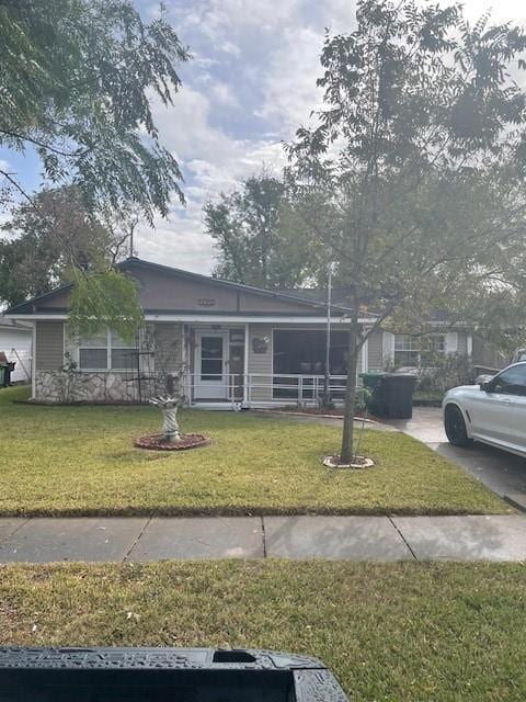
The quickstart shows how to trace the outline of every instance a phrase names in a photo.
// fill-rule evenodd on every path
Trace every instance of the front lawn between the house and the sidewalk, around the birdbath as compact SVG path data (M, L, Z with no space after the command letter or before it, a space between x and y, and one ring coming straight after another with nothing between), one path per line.
M13 399L21 388L0 392ZM0 399L0 403L2 400ZM0 406L0 514L459 514L513 511L474 478L399 433L366 431L377 466L332 471L336 428L190 410L185 431L213 445L167 454L133 448L159 431L153 407Z

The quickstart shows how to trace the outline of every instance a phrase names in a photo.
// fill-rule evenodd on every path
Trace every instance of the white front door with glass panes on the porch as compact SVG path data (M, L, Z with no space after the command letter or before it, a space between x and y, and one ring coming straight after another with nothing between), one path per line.
M196 331L194 398L228 399L228 332Z

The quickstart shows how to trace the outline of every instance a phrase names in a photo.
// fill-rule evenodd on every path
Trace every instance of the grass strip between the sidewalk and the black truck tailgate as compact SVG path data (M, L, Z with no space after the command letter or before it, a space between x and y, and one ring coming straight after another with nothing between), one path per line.
M522 702L518 564L216 562L0 568L0 643L320 657L352 700Z

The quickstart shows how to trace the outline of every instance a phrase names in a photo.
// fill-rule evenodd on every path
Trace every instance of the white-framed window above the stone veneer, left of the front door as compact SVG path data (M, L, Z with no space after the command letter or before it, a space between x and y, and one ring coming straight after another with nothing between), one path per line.
M127 371L137 366L137 348L115 332L107 331L82 339L79 346L81 371Z

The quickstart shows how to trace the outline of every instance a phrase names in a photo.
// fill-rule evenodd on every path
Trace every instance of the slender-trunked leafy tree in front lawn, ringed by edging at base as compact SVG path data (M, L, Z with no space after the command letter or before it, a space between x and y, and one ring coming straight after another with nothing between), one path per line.
M288 171L298 213L353 293L344 461L357 355L375 327L359 329L359 309L380 324L487 290L495 259L521 260L526 231L526 99L511 76L526 66L523 29L471 26L459 4L415 0L359 0L356 19L325 38L324 105L298 131ZM516 202L501 197L511 186Z

